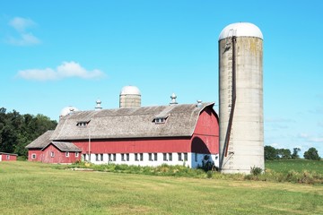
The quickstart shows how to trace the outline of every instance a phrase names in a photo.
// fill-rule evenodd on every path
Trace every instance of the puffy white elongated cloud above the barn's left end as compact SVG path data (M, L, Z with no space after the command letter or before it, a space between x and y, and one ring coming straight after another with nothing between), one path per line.
M88 71L80 64L71 62L63 62L56 69L29 69L21 70L16 75L18 78L34 81L53 81L64 78L82 78L82 79L99 79L105 76L105 73L98 69Z

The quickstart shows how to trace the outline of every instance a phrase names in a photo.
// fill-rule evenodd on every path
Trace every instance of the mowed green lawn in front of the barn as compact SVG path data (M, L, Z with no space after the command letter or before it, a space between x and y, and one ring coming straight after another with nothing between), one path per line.
M323 185L51 167L0 162L0 214L323 214Z

